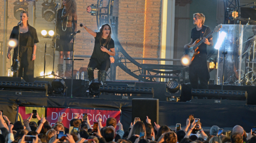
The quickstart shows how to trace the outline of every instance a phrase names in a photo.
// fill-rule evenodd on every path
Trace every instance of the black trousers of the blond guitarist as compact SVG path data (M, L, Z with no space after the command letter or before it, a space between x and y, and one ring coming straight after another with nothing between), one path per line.
M200 85L198 85L198 79ZM189 80L194 89L208 89L210 74L207 67L207 55L196 55L189 65Z

